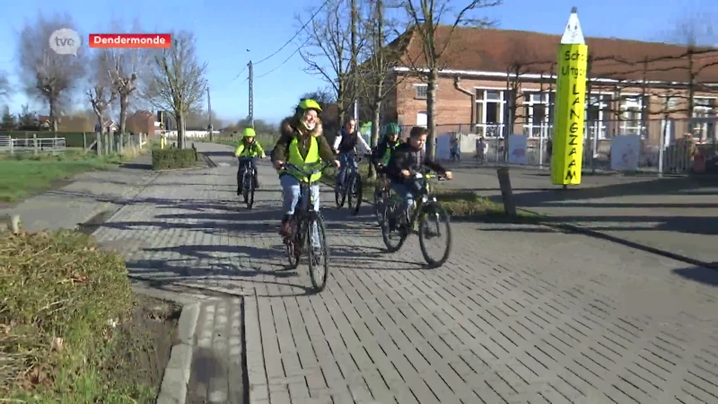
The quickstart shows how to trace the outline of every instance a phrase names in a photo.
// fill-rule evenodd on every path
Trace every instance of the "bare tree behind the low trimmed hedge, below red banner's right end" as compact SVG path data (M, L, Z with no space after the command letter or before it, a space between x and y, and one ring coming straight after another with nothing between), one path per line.
M173 33L171 48L153 55L144 97L160 110L171 111L177 122L177 146L185 146L185 119L202 109L206 63L197 60L195 36L189 31Z

